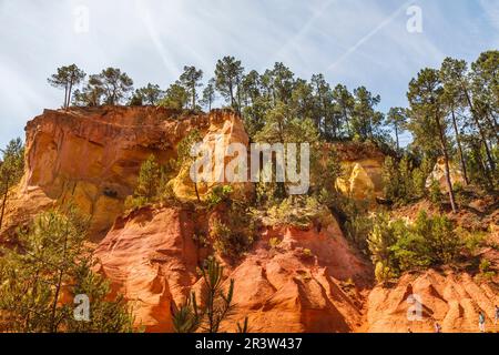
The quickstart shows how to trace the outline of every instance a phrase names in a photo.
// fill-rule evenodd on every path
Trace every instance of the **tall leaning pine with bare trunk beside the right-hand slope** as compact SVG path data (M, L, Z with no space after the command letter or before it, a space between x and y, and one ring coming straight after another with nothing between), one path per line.
M418 77L410 81L407 93L411 108L409 128L421 146L439 150L444 155L447 190L452 212L456 213L442 94L444 88L438 70L428 68L421 70Z

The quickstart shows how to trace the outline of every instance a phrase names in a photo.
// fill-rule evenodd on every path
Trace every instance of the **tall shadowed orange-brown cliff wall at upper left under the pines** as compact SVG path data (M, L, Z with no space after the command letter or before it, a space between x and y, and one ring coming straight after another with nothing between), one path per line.
M164 164L191 130L204 135L212 122L235 120L223 111L183 118L145 106L45 110L26 128L26 173L9 201L4 226L72 202L92 216L91 235L99 241L123 212L144 160L154 154Z

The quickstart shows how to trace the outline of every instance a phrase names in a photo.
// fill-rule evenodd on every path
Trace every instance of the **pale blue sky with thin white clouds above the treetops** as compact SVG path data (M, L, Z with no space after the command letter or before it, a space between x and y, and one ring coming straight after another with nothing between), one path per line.
M407 31L409 6L422 11L420 33ZM86 10L88 31L75 31ZM69 63L165 88L185 64L208 79L226 54L247 70L283 61L305 79L366 85L386 111L406 105L421 68L498 49L499 0L0 0L0 146L61 105L47 78Z

